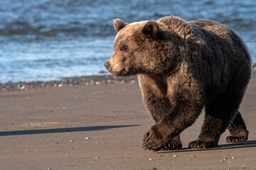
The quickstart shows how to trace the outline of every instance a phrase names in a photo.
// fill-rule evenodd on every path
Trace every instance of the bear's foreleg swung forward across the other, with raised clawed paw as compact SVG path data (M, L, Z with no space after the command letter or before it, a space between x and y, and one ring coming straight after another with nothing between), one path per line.
M180 102L179 106L169 115L164 116L153 125L142 140L144 149L153 151L180 149L181 140L179 139L179 134L195 122L203 108L202 101L194 102Z

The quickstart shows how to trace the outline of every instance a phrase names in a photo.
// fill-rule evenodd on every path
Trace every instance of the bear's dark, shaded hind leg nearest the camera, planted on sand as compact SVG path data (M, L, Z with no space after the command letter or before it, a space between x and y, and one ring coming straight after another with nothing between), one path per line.
M218 147L220 135L228 128L244 93L235 88L227 89L221 96L206 106L206 115L198 140L190 142L192 149ZM238 121L239 122L239 121Z

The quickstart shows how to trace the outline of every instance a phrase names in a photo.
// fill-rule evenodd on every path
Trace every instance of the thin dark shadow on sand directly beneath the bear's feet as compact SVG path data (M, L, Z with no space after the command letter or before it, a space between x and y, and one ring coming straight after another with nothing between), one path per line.
M183 147L181 150L170 150L170 151L163 151L158 153L163 154L163 153L176 153L176 152L201 152L201 151L210 151L210 150L238 149L238 148L247 148L247 147L256 147L256 140L248 140L243 143L221 144L219 145L219 147L214 147L209 149L189 149L188 147Z

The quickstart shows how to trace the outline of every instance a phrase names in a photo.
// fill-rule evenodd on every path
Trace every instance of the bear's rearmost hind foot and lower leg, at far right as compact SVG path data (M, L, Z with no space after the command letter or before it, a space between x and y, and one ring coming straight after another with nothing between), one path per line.
M245 142L248 139L249 132L239 111L229 125L228 130L230 131L230 135L226 138L227 143Z

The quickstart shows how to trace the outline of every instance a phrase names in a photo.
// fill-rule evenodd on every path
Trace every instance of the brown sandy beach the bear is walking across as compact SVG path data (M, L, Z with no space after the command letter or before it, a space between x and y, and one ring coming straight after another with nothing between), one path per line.
M154 121L137 79L28 86L1 88L0 169L256 169L256 72L240 106L247 142L226 144L225 132L218 148L188 149L202 113L169 152L141 147Z

